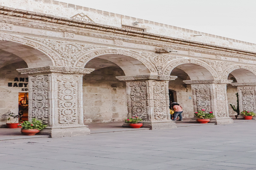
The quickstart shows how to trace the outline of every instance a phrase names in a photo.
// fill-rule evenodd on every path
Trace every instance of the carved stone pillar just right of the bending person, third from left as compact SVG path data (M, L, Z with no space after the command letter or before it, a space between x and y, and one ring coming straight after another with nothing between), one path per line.
M227 84L231 80L185 80L193 90L194 111L213 112L215 118L210 123L231 124L234 121L228 115Z

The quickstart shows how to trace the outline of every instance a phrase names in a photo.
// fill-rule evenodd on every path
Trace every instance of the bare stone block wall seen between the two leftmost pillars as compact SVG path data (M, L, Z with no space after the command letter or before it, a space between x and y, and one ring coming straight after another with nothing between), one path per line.
M122 122L127 118L127 95L120 67L106 67L83 77L84 123Z

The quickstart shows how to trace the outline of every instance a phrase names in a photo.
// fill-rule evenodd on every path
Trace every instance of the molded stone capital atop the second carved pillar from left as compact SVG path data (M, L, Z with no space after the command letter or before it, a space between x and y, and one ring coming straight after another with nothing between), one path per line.
M177 76L164 75L139 75L139 76L117 76L120 81L139 81L139 80L175 80Z

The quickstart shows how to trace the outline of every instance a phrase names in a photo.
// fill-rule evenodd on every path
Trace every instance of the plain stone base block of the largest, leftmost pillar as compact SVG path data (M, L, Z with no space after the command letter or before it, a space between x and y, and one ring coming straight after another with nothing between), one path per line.
M88 135L90 134L90 129L88 126L81 127L61 127L61 128L53 128L47 127L42 130L38 134L41 135L49 135L50 137L66 137L66 136L79 136L79 135Z

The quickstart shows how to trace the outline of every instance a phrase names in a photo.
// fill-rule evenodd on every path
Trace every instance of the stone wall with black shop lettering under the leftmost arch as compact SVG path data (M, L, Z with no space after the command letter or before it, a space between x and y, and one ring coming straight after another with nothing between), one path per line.
M15 77L28 77L26 75L21 75L18 71L16 71L18 68L26 67L27 64L23 61L9 64L0 68L0 128L5 127L9 112L13 112L15 115L18 115L19 92L28 92L22 91L22 89L27 87L8 87L9 82L13 84L28 83L14 81Z

